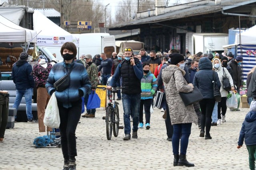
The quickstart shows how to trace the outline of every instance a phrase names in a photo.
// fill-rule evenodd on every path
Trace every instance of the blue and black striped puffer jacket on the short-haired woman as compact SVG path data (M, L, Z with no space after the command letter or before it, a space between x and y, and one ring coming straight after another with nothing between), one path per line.
M66 64L65 61L56 63L52 67L45 84L47 91L50 94L52 90L55 90L53 87L54 82L66 75L68 69L71 67L73 67L73 69L70 73L69 87L62 92L55 92L57 101L62 102L63 107L66 108L72 106L71 102L76 102L81 99L82 96L78 94L78 89L81 89L84 92L84 96L91 90L90 79L84 65L74 61L71 64Z

